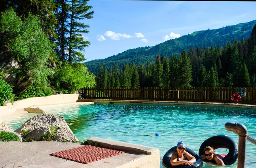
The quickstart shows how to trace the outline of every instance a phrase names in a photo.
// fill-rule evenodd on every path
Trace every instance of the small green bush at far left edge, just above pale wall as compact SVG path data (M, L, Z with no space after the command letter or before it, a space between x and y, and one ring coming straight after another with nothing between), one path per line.
M14 94L12 93L12 86L8 84L2 77L0 77L0 105L4 105L4 101L14 101Z

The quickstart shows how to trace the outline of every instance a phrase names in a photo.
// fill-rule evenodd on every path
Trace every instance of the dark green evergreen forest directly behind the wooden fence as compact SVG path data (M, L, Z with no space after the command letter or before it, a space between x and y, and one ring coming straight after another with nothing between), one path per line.
M97 87L256 87L255 35L256 24L249 39L228 41L224 48L195 47L170 58L158 54L146 65L116 63L110 71L101 64Z

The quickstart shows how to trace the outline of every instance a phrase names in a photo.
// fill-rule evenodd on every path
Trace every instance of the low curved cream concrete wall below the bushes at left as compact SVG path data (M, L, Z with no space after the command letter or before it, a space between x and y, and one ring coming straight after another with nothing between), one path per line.
M23 109L33 105L72 103L78 100L78 94L61 94L46 97L31 97L15 101L12 105L0 106L0 116L12 113L17 109Z

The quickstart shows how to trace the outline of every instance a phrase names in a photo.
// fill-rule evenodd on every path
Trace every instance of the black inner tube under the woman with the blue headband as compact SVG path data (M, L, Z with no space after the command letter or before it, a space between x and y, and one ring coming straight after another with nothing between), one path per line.
M185 164L178 165L178 166L171 165L170 160L171 160L172 154L175 153L176 151L177 151L177 146L170 148L169 151L167 151L165 153L165 155L163 156L163 159L162 159L162 164L165 167L167 167L167 168L199 168L199 167L202 167L203 162L200 159L200 157L194 151L192 151L191 149L189 149L187 147L186 147L186 151L196 158L196 162L192 166L185 165Z

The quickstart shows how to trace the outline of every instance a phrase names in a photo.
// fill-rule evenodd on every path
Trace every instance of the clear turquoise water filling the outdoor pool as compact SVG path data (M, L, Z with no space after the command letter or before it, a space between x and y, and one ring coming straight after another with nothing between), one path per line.
M163 155L178 141L185 141L187 147L198 153L204 140L215 135L228 135L238 143L238 136L226 131L224 125L242 123L248 134L256 137L256 111L193 107L177 105L100 104L61 105L42 107L47 113L63 116L76 137L83 141L89 137L135 143L160 149ZM13 129L19 128L34 114L4 121ZM158 132L160 136L151 136ZM150 136L147 136L150 135ZM226 149L217 149L227 154ZM162 161L161 161L161 168ZM204 168L216 167L204 163ZM227 165L236 168L237 163ZM256 145L246 141L246 168L256 168Z

